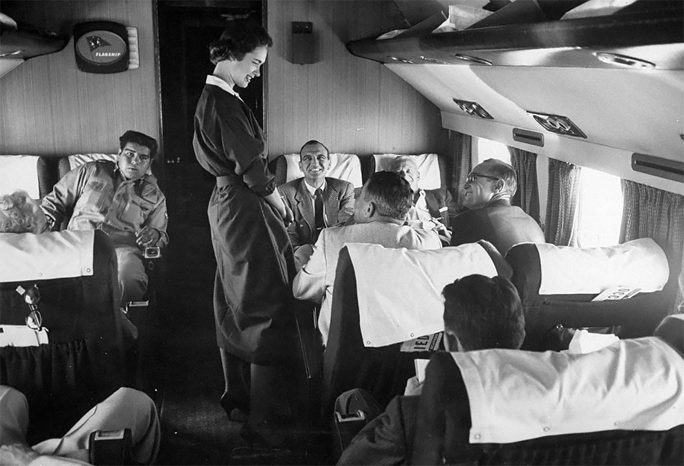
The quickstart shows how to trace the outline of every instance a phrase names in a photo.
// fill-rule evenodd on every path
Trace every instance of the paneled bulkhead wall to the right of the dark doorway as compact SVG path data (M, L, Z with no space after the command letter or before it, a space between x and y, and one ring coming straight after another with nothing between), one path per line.
M309 139L348 153L443 152L447 131L431 102L381 64L354 57L352 39L404 27L392 1L279 0L267 3L274 46L267 60L269 155ZM292 21L312 21L315 64L293 64Z

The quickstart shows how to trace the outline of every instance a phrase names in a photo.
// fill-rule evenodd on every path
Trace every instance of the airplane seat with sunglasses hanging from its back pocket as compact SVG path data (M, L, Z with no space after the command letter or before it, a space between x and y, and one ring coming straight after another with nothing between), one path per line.
M26 395L35 440L124 384L116 255L96 230L3 233L0 257L0 383ZM32 329L26 292L39 295L46 332Z

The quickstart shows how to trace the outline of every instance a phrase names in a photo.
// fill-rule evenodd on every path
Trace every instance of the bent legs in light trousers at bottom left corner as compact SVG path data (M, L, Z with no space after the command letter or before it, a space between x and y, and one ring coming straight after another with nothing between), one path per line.
M131 429L131 460L149 465L159 451L157 408L149 396L122 388L84 414L61 438L50 438L30 447L28 402L10 386L0 385L0 464L84 465L88 463L89 436L97 430Z

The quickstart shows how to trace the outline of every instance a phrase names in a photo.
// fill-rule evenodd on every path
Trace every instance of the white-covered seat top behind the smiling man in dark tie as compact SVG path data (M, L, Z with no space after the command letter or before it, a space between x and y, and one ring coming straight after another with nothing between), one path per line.
M283 156L278 156L271 162L271 167L275 167L276 186L289 183L304 176L303 172L299 169L298 153L286 153ZM354 196L359 195L365 181L361 174L359 156L353 153L331 152L330 170L327 172L327 176L352 183L354 185Z

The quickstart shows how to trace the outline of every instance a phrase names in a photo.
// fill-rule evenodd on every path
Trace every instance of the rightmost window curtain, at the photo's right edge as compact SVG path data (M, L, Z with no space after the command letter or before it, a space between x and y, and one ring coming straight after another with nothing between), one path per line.
M620 243L652 238L665 250L671 277L684 268L684 196L651 186L623 180L623 224ZM678 312L683 300L678 289L671 313Z

